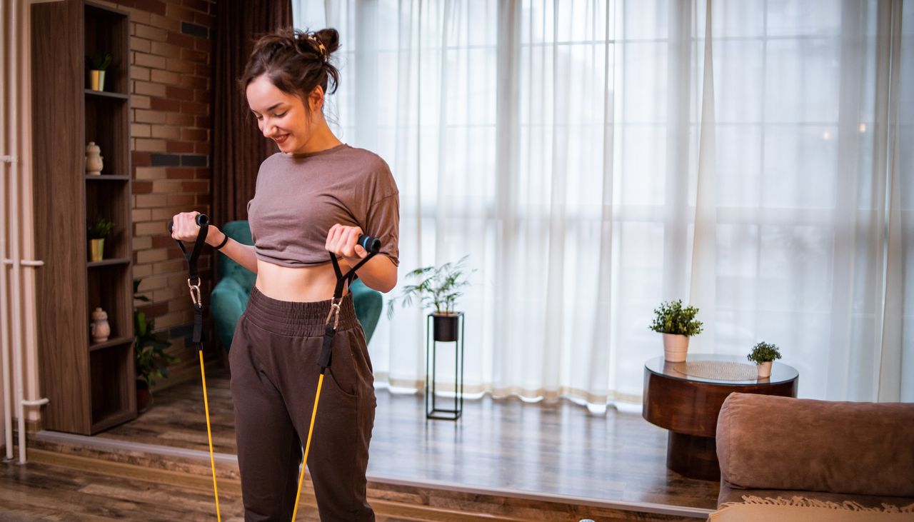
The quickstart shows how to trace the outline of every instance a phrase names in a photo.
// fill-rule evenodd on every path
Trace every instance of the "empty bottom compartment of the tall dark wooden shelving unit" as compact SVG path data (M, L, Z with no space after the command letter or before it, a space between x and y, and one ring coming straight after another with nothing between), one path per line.
M92 433L136 415L136 379L132 339L93 350L89 355Z

